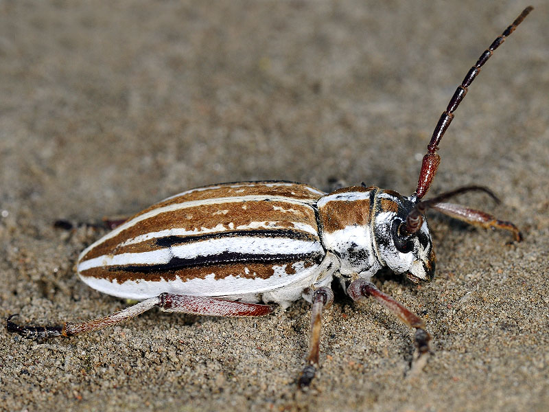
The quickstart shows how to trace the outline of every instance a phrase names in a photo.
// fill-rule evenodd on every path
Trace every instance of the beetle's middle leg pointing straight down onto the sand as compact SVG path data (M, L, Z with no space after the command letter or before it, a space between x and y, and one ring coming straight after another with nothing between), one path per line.
M309 356L307 366L303 368L298 386L303 389L311 384L318 367L318 352L320 352L320 330L322 329L322 311L329 308L334 301L334 292L325 286L314 291L311 306L311 334L309 337Z

